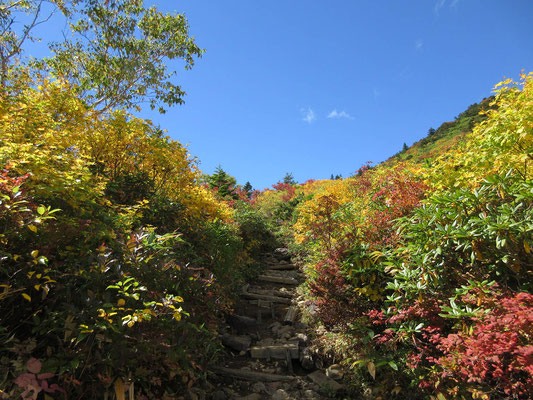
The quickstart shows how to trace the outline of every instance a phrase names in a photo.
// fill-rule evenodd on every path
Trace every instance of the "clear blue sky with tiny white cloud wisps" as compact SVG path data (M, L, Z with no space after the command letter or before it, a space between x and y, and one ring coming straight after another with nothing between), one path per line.
M180 0L205 55L153 119L262 189L351 175L533 70L531 0Z

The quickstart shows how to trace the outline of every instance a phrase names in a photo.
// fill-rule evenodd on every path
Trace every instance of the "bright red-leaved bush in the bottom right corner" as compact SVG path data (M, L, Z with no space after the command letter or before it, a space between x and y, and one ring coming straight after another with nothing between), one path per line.
M438 346L446 355L437 361L442 377L487 385L507 396L533 393L533 296L518 293L474 326L471 335L451 334Z

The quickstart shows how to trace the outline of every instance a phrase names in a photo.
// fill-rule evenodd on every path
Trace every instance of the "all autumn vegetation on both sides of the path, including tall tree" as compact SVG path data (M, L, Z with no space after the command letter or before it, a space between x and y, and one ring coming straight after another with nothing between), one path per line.
M26 59L42 3L0 9L0 398L194 398L281 247L338 397L530 398L533 73L382 164L258 191L140 117L183 102L184 16L53 1L79 36Z

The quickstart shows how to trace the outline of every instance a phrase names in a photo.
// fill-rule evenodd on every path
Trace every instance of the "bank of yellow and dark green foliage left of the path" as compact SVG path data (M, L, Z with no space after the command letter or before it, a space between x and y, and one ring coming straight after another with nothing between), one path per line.
M150 121L23 69L10 82L0 398L175 398L216 357L218 318L256 266L253 216L200 185L186 147Z

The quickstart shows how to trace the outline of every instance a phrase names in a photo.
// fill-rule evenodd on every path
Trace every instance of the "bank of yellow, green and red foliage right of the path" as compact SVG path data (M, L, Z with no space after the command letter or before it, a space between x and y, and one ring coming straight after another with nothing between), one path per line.
M521 78L497 85L481 122L435 159L304 190L305 289L354 392L529 398L533 75Z

